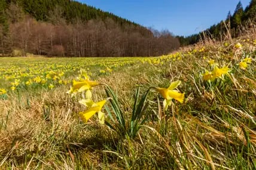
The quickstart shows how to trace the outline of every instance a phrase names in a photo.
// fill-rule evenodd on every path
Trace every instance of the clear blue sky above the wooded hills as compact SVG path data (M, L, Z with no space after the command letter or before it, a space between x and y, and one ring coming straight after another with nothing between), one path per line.
M239 0L77 0L145 27L191 35L233 14ZM243 8L251 0L241 0Z

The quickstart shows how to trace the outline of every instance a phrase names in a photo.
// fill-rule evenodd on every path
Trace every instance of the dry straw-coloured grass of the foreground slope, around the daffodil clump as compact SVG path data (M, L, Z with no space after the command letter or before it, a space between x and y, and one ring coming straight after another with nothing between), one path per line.
M234 47L237 41L240 50ZM124 66L109 76L93 76L114 88L126 114L132 112L136 85L145 91L148 86L182 81L179 90L186 100L174 102L167 112L161 109L163 98L150 93L150 117L134 139L99 125L96 116L81 122L77 113L84 107L79 97L65 93L69 86L9 94L9 100L0 100L1 169L255 169L253 41L209 44L204 50L199 45L172 58L161 57L159 64L154 59L155 64ZM237 64L246 56L252 63L241 70ZM202 80L205 68L211 69L210 58L220 67L232 68L231 76L211 86ZM100 86L93 94L96 101L105 97Z

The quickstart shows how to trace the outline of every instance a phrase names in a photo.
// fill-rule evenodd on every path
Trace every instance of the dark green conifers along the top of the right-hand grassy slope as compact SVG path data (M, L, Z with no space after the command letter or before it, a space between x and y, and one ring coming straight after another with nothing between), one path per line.
M234 13L230 11L227 18L218 24L212 25L209 29L191 36L176 36L182 46L195 44L205 38L223 40L230 37L242 35L244 28L255 27L256 24L256 0L251 0L250 4L243 9L242 3L239 1L236 5Z

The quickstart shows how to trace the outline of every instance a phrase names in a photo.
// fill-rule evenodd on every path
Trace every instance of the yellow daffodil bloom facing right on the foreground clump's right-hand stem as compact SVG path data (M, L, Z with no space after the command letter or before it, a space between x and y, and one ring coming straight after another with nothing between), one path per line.
M170 84L168 88L156 88L156 90L163 96L164 109L167 110L168 106L171 104L172 99L183 103L185 93L178 92L176 88L181 84L181 81L175 81Z

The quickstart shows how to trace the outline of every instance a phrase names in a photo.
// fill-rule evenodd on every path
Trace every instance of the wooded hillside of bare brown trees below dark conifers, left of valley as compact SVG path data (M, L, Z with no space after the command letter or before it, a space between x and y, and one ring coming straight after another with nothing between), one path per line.
M69 0L1 0L0 53L69 56L154 56L179 48L157 32Z

